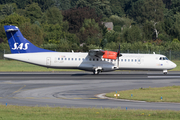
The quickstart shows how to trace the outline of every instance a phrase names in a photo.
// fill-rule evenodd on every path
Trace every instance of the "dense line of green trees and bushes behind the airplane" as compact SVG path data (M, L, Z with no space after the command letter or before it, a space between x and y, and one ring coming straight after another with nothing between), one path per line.
M0 50L9 49L3 26L16 25L56 51L180 51L179 12L178 0L1 0Z

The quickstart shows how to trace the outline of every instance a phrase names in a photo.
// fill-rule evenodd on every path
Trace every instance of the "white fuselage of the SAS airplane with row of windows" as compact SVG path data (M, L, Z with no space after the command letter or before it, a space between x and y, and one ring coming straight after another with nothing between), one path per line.
M86 71L113 70L169 70L176 64L159 54L123 54L118 60L91 57L88 53L77 52L39 52L5 54L5 58L15 59L48 68L82 69ZM160 60L162 58L162 60ZM118 66L119 65L119 66Z

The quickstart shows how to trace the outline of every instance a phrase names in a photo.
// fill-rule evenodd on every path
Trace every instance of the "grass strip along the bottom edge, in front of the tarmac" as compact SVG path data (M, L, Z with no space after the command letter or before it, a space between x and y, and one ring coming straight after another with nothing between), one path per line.
M179 120L180 111L0 105L0 120Z

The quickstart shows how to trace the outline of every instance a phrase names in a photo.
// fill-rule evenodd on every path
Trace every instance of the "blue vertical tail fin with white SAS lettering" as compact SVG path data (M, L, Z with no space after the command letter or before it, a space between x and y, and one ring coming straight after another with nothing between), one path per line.
M12 25L4 26L11 53L34 53L34 52L54 52L36 47L25 39L18 27Z

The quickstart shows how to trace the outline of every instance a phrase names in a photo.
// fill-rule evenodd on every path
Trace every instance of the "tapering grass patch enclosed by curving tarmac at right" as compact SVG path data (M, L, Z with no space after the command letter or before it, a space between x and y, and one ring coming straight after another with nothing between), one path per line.
M114 97L115 92L107 93L107 97ZM139 88L133 90L118 91L118 99L138 100L147 102L175 102L180 103L180 86L160 88ZM133 96L131 96L131 94ZM161 100L162 97L162 100Z

